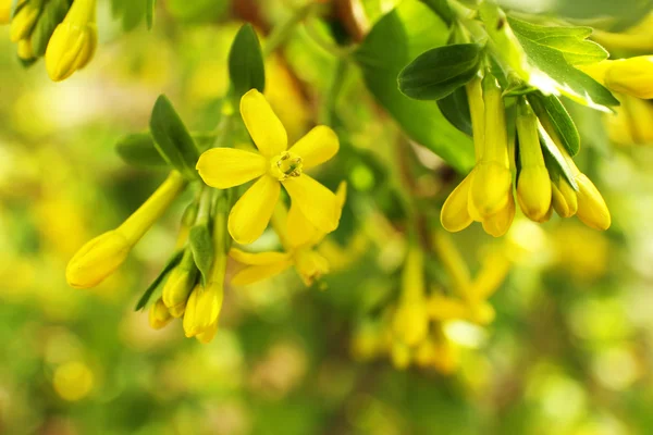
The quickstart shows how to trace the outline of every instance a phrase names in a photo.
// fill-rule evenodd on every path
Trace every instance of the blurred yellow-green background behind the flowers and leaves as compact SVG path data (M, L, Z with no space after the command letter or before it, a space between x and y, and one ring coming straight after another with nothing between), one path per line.
M133 311L172 249L178 207L120 273L94 290L70 288L64 269L76 249L120 224L164 177L128 167L113 145L147 128L162 92L192 129L212 129L239 26L226 8L213 5L211 15L208 1L169 0L151 33L140 24L123 34L99 3L97 57L62 84L41 62L23 70L0 28L0 434L653 431L653 150L645 147L583 150L581 167L613 213L606 233L577 220L539 226L518 217L502 240L477 226L454 235L472 269L491 246L519 254L491 300L496 321L459 337L453 375L397 371L352 352L360 301L397 291L404 248L398 233L374 237L379 225L369 222L356 223L360 240L340 252L343 266L324 290L304 288L293 272L227 288L208 346L184 338L178 324L155 332ZM286 3L266 2L261 13L279 22ZM319 116L334 62L304 30L285 53L269 58L267 94L297 138ZM350 140L386 159L384 142L397 129L350 73L337 105ZM591 123L584 132L603 128L600 116ZM419 181L426 189L453 187L435 174ZM374 175L343 176L366 192Z

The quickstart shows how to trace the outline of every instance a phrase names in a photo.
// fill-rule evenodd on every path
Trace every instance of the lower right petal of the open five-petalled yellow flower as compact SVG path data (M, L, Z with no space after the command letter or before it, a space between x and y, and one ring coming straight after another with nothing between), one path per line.
M331 190L306 174L285 179L282 184L291 196L293 204L299 208L318 231L331 233L337 228L342 209Z

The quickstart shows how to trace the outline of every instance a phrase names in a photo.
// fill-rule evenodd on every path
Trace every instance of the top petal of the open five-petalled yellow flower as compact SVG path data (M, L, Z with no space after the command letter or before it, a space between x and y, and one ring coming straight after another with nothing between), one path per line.
M241 115L261 154L273 157L285 151L288 146L286 130L261 92L251 89L243 96Z

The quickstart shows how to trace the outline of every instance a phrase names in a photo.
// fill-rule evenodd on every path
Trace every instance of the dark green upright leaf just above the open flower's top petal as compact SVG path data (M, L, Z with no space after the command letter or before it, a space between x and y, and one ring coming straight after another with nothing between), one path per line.
M234 38L229 52L229 77L237 98L249 89L262 92L266 87L263 54L251 24L241 27Z

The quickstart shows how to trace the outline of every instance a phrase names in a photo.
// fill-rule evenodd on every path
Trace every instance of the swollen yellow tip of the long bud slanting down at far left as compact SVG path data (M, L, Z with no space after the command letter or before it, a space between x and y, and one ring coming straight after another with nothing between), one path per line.
M127 258L132 244L120 231L110 231L88 241L69 262L67 283L90 288L111 275Z

